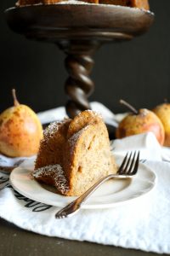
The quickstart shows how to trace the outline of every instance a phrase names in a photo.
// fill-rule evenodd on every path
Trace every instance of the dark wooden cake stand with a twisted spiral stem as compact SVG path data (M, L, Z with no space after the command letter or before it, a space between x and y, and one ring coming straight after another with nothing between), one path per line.
M94 90L89 74L92 55L101 44L129 40L146 32L153 13L141 9L104 4L55 4L11 8L5 11L8 26L26 38L54 43L65 54L69 78L65 93L66 112L73 118L89 109Z

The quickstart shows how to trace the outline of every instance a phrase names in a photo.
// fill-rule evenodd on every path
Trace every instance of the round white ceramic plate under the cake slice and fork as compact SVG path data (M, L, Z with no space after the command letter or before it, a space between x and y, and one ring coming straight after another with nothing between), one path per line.
M119 160L121 162L121 160ZM10 175L10 182L15 190L31 200L42 202L55 207L64 207L76 197L54 193L54 189L37 183L31 177L33 160L27 162L27 167L18 167ZM148 195L156 184L156 174L143 164L139 164L139 171L133 179L110 180L102 184L90 196L82 208L109 208L127 203L142 195Z

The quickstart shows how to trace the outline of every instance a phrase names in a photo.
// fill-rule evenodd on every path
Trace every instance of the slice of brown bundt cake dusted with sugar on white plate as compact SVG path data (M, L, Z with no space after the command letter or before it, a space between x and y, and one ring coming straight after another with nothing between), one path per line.
M44 131L33 177L62 195L82 195L99 178L116 171L105 123L99 113L86 110Z

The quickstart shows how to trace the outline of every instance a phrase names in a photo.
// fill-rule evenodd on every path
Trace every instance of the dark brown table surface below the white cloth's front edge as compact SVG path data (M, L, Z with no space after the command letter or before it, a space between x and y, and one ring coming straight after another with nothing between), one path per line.
M21 230L0 218L0 256L154 256L122 247L104 246L87 241L69 241L57 237L41 236ZM163 255L163 254L161 254Z

